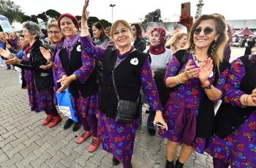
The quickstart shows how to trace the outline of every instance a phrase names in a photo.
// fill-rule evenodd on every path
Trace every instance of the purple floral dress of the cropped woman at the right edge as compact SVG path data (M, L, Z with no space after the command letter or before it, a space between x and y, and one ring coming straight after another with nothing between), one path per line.
M227 77L223 101L242 107L240 97L245 93L238 88L245 73L243 62L239 58L233 61ZM252 112L249 118L224 140L214 134L207 143L206 152L230 164L231 167L256 167L256 111Z

